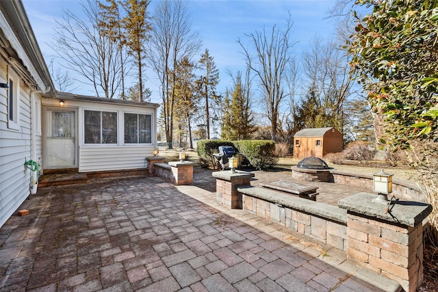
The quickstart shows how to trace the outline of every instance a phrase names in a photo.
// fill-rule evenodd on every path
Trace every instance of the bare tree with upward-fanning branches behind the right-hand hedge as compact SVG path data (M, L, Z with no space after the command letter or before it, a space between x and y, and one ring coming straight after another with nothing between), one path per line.
M271 139L276 141L279 109L287 93L285 87L285 70L291 59L291 49L296 42L290 39L292 19L289 13L284 29L274 25L272 30L255 31L248 34L255 52L247 49L241 40L237 40L244 51L247 65L259 78L266 105L266 116L270 120Z

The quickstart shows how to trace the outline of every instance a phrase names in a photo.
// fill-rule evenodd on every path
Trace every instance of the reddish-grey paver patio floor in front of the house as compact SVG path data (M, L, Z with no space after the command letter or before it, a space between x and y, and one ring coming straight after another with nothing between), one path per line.
M382 291L342 252L222 212L208 175L38 189L0 228L0 291Z

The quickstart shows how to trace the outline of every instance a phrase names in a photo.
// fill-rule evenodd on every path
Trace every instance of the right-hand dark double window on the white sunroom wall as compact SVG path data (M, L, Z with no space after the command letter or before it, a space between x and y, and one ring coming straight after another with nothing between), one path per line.
M125 113L125 143L152 143L152 116Z

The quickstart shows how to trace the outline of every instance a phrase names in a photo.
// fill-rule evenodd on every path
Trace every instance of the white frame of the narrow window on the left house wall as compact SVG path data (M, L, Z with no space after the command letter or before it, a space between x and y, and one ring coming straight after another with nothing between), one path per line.
M13 130L20 129L20 78L18 74L12 69L8 72L8 84L10 85L12 81L12 86L8 88L8 128ZM12 94L12 116L10 113L10 103Z

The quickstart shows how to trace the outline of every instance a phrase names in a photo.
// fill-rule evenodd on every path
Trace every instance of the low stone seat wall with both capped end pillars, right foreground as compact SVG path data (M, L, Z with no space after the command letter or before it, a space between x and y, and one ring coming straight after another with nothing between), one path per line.
M348 259L415 292L423 280L423 220L432 207L398 200L387 206L375 194L359 193L334 207L270 189L252 187L250 173L215 172L222 205L244 209L296 233L347 252ZM236 184L240 185L236 185ZM219 192L217 191L217 194ZM240 207L242 206L242 207Z

